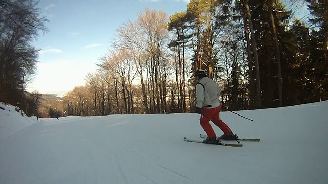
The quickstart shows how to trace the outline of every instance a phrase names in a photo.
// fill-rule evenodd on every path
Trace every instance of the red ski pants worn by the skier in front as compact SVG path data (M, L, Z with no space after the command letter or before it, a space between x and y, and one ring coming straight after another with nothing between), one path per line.
M210 138L216 136L211 124L209 123L210 120L212 120L213 123L224 132L224 134L230 134L232 132L228 125L220 119L220 111L221 106L210 109L202 108L200 125L203 127L207 136Z

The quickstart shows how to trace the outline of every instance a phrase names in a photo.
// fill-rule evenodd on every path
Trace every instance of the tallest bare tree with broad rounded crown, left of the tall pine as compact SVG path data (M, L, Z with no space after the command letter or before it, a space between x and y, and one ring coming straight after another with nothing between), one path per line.
M118 29L116 37L118 47L128 48L135 54L134 61L137 66L138 74L141 78L141 85L145 86L142 75L143 63L140 62L140 54L149 55L144 57L150 66L149 74L147 75L151 82L152 99L155 111L159 113L160 108L163 108L163 83L161 77L160 59L163 55L162 48L165 47L168 31L165 25L168 22L168 16L163 11L145 9L144 12L138 14L135 22L127 22ZM146 63L146 62L145 62ZM147 67L145 68L147 71ZM148 80L149 80L148 79ZM144 98L146 98L146 87L144 87ZM146 100L144 99L146 104Z

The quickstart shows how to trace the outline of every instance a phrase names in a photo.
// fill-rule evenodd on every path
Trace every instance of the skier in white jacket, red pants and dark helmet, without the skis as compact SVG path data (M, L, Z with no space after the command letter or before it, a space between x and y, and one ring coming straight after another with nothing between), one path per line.
M234 134L228 125L220 119L221 104L219 97L221 91L216 82L207 77L205 71L201 69L196 71L196 79L198 81L196 85L196 112L201 114L200 125L207 134L207 138L203 143L217 143L220 142L219 139L238 139L237 134ZM224 132L222 136L216 137L209 123L210 120Z

